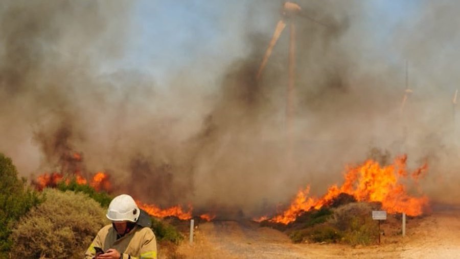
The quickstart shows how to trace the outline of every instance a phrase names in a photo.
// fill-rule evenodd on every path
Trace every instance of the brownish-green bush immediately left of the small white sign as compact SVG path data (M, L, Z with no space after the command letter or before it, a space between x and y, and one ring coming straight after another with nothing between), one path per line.
M334 211L331 223L342 231L344 243L369 245L378 238L378 222L372 219L368 203L349 203Z

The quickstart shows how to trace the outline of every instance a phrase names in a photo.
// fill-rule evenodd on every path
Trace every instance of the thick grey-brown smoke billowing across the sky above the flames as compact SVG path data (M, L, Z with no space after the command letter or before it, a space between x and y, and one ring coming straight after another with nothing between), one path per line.
M139 37L128 2L3 1L0 151L22 175L107 171L114 192L146 203L250 216L308 184L323 194L376 147L407 153L412 168L428 161L422 189L452 202L441 190L455 192L445 185L460 167L451 102L460 5L421 2L388 33L368 24L364 1L299 4L289 147L289 25L255 76L279 1L225 4L213 18L225 37L196 39L220 51L192 55L169 80L141 67L104 72ZM402 107L406 59L413 92Z

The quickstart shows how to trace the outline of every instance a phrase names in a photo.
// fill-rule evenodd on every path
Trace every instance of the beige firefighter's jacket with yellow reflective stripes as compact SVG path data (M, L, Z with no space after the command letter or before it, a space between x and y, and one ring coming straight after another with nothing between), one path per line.
M156 239L152 229L149 227L135 227L124 237L117 240L117 231L112 224L106 225L99 230L98 235L93 243L85 252L86 259L92 259L96 250L94 247L100 247L107 251L109 248L117 249L123 253L123 259L156 259Z

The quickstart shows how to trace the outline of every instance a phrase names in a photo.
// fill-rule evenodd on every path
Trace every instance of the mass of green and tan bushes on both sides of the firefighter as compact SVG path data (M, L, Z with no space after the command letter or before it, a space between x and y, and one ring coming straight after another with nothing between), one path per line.
M0 153L0 259L79 258L99 229L113 195L75 180L38 192L18 178L10 158ZM183 235L151 217L159 257L174 254Z

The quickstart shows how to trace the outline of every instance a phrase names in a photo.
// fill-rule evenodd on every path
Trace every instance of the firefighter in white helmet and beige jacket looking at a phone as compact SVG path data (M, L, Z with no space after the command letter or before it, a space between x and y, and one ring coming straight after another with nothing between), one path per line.
M86 259L156 259L152 222L131 196L113 198L106 216L112 224L99 230L85 252Z

